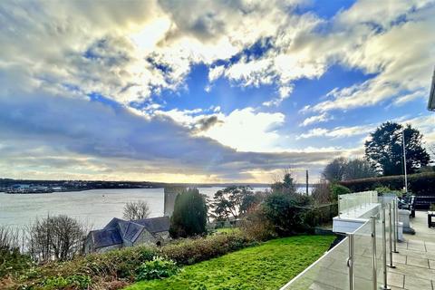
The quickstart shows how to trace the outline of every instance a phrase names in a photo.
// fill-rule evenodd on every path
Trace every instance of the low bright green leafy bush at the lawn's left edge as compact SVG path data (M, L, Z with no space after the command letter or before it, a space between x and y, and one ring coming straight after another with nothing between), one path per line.
M162 279L177 273L179 273L179 266L174 261L155 256L151 261L143 263L136 269L136 280Z

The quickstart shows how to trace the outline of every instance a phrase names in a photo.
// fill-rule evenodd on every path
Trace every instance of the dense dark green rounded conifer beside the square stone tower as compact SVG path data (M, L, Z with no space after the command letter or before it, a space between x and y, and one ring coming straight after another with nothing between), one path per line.
M198 189L186 189L175 198L170 218L170 237L191 237L207 233L206 198Z

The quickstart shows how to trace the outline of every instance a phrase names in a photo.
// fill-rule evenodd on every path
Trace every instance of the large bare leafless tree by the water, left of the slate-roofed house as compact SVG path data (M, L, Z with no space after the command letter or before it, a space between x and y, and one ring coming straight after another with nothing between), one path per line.
M28 250L37 261L69 260L82 253L86 227L67 216L36 219L28 228Z

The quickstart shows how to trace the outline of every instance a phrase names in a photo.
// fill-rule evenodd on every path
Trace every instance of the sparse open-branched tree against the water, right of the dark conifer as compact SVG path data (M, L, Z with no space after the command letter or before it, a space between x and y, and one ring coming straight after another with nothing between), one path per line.
M237 219L239 215L256 203L256 196L250 187L228 187L218 190L211 203L214 218L220 220L230 217Z

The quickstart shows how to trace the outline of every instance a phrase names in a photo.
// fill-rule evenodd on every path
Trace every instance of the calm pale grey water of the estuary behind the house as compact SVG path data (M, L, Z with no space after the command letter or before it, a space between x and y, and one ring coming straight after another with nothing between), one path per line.
M213 197L222 188L198 189ZM150 217L162 216L163 196L163 189L93 189L27 195L0 192L0 225L23 227L34 218L63 214L101 228L111 218L122 218L122 208L129 201L145 200L150 205Z

